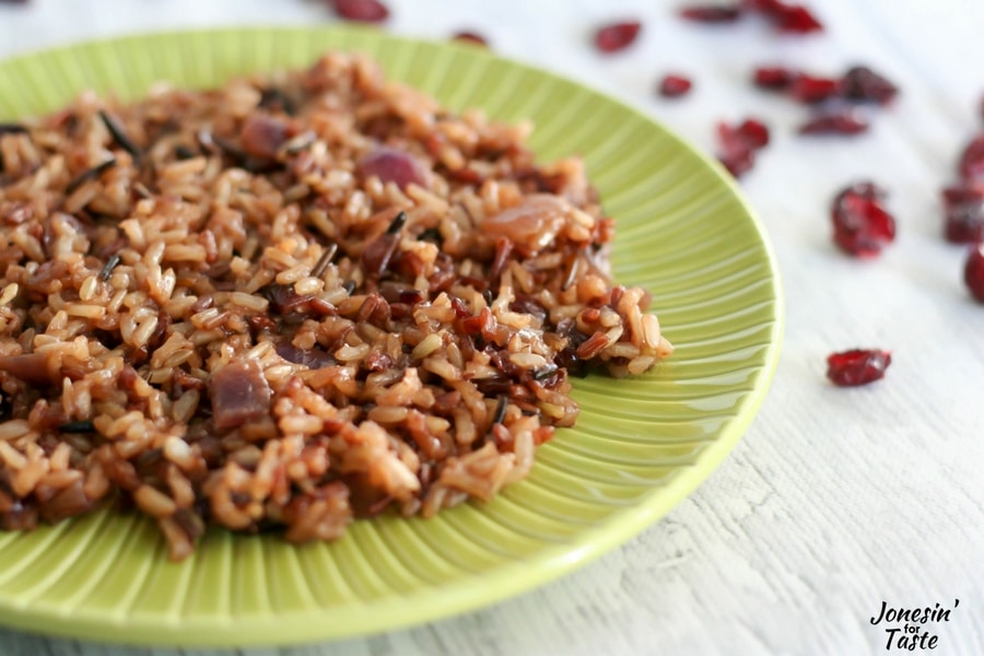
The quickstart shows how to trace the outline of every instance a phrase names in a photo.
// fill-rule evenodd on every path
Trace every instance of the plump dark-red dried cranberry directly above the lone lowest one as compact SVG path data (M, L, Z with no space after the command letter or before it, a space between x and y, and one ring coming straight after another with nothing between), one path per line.
M895 220L881 206L886 194L871 183L857 183L837 194L831 207L833 239L858 257L881 253L895 238Z

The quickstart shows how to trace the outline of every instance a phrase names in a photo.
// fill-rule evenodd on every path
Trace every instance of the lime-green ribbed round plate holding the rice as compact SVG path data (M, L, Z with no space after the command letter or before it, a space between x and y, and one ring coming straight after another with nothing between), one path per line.
M218 85L361 50L455 109L531 118L542 160L582 154L618 221L614 270L653 292L673 356L648 375L578 380L577 426L489 504L358 522L332 544L213 530L167 561L147 520L98 513L0 534L0 623L108 642L260 645L365 634L528 590L630 539L689 494L739 440L778 358L782 300L762 227L730 178L651 119L472 46L356 28L160 34L0 63L0 120L82 89L137 97L157 80ZM657 593L658 594L658 593Z

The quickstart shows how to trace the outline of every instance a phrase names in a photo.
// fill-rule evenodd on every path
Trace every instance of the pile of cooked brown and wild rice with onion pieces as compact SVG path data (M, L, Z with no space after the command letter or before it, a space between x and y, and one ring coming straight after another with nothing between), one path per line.
M528 131L348 54L0 125L0 527L137 508L180 560L527 476L571 375L672 351Z

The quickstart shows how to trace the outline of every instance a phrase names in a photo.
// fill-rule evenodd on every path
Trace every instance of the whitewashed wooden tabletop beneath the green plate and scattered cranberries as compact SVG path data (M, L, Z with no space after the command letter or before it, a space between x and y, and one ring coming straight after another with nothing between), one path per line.
M688 25L675 16L677 0L388 3L388 30L432 38L479 30L497 52L619 97L704 149L719 119L766 119L773 143L742 187L778 255L783 358L759 418L714 476L582 571L432 625L246 653L879 654L887 626L870 618L882 601L959 599L949 621L919 630L938 636L935 654L984 654L984 305L960 281L964 250L940 238L938 201L959 149L984 128L984 3L812 1L828 31L799 39L758 22ZM621 16L644 22L641 42L597 56L591 27ZM140 31L331 20L315 0L4 2L0 57ZM748 82L751 67L769 61L827 73L866 63L902 95L867 136L805 140L794 133L805 110ZM653 94L670 69L694 78L689 97ZM890 190L900 225L874 262L842 256L829 238L830 200L858 178ZM832 387L827 354L855 345L893 351L887 379ZM0 629L3 655L176 653Z

